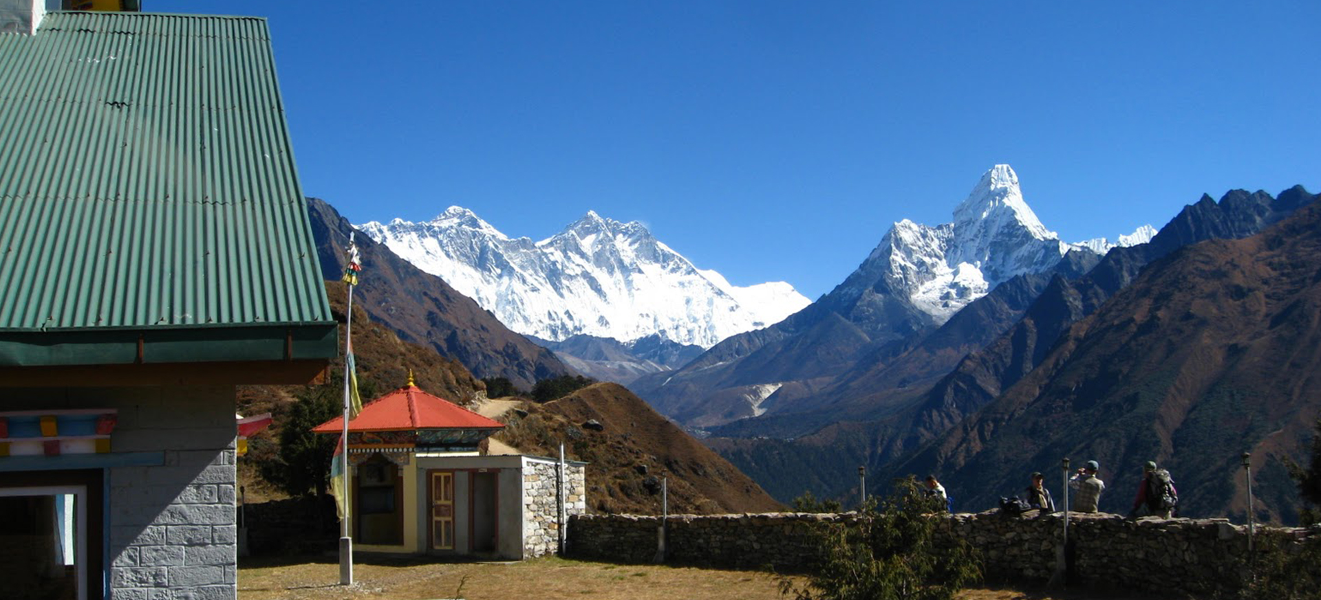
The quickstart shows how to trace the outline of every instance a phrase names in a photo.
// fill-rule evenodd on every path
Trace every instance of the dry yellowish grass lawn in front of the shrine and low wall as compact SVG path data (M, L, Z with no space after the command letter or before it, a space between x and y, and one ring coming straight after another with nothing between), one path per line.
M252 558L239 563L239 600L782 600L757 571L609 564L555 556L524 562L445 562L357 556L354 585L338 585L336 556ZM466 579L465 579L466 578ZM458 591L462 584L462 591ZM457 593L456 593L457 592ZM1124 596L968 589L963 600L1120 600Z

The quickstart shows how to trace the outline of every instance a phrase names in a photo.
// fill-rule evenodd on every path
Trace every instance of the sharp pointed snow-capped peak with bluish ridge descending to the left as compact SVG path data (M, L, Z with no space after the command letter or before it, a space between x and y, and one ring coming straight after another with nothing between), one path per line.
M810 410L823 396L835 398L826 390L847 382L845 373L904 353L1001 284L1020 278L1020 289L1003 298L1024 306L1030 301L1024 293L1034 297L1040 282L1022 278L1055 269L1066 255L1074 258L1063 269L1074 270L1090 266L1083 256L1095 256L1048 231L1024 202L1017 174L996 165L958 204L952 223L896 223L843 284L811 306L727 339L683 369L643 376L634 389L662 413L696 427ZM1007 318L991 331L1003 331L1017 314ZM984 330L956 327L978 335ZM956 344L959 349L931 351L948 363L968 349ZM926 365L906 377L939 376L952 363Z

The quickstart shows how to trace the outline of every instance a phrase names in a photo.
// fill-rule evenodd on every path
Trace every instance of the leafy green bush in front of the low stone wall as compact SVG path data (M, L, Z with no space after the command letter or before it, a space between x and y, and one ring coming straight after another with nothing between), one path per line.
M863 506L856 526L828 526L818 571L806 587L782 579L781 593L795 600L951 600L982 579L982 562L962 539L935 545L943 509L913 476L896 480L890 496Z

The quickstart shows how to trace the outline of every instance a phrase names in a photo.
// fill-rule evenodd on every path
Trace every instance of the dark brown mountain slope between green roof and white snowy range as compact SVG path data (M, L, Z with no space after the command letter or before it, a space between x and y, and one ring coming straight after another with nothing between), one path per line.
M353 225L316 198L308 200L308 214L322 277L339 280ZM551 351L510 331L440 277L421 272L365 235L359 233L355 241L363 274L354 303L406 342L429 345L441 356L458 360L477 377L507 377L520 389L575 373Z

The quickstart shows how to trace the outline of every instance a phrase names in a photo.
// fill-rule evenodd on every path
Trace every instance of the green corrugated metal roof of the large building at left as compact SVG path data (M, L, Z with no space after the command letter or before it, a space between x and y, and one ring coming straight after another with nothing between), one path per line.
M0 36L0 332L332 323L264 18Z

